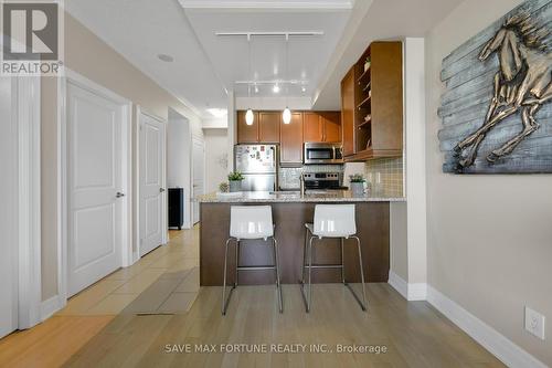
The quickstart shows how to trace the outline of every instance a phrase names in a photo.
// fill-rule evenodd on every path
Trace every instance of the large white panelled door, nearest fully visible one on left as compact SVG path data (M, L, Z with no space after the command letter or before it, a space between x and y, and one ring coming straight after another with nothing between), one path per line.
M67 83L67 288L121 266L124 106Z

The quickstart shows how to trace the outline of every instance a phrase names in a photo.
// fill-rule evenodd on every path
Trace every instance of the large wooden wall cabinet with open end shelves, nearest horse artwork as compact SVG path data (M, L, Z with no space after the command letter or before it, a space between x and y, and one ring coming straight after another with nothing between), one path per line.
M341 81L346 160L402 155L402 60L401 42L373 42Z

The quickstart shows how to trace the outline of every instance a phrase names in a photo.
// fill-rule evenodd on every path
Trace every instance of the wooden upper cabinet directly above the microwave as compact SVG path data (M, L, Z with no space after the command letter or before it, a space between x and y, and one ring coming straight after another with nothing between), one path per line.
M305 141L341 141L341 114L338 112L304 113Z

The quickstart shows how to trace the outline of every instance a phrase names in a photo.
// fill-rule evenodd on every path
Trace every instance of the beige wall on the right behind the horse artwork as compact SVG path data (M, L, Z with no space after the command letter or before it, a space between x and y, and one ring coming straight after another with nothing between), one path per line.
M426 39L428 283L552 365L552 176L442 172L440 62L520 0L467 0ZM542 341L523 330L523 306L548 317Z

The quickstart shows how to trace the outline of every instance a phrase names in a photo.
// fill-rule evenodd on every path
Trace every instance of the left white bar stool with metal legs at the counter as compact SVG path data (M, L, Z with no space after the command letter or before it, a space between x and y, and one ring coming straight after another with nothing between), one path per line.
M240 266L240 241L244 239L263 239L265 241L272 238L274 249L274 265L265 266ZM226 299L226 267L229 257L230 242L235 241L236 251L236 270L235 282L230 290ZM274 223L273 211L270 206L232 206L230 209L230 238L226 240L226 248L224 251L224 283L222 286L222 315L226 314L226 308L232 297L232 292L237 286L238 271L255 271L255 270L275 270L276 273L276 287L278 290L278 306L282 313L282 285L279 282L279 267L278 267L278 242L274 238Z

